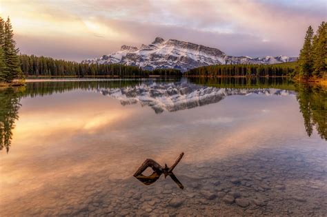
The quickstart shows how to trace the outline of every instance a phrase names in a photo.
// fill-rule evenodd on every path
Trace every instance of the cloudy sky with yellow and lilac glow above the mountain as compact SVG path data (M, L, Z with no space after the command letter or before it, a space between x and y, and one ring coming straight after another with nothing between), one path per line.
M297 56L324 0L0 0L21 53L81 61L151 43L199 43L241 56Z

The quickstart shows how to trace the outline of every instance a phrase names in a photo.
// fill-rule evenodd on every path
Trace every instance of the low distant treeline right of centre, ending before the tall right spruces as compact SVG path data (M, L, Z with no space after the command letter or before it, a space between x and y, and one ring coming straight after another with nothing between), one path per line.
M208 65L185 72L186 76L292 76L295 68L290 65Z

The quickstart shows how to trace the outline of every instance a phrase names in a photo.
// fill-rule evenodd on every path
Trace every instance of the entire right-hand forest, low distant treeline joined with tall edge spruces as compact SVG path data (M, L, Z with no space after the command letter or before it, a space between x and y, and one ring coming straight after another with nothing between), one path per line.
M294 63L208 65L189 70L184 76L289 76L301 81L327 79L326 31L327 25L324 21L319 25L315 35L313 28L309 26L299 60Z

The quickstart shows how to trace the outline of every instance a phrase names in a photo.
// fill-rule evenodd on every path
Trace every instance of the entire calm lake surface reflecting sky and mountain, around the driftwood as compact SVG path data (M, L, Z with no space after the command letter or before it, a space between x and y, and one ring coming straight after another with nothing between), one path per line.
M326 89L280 80L1 89L0 215L326 216L326 124ZM133 177L181 152L184 189Z

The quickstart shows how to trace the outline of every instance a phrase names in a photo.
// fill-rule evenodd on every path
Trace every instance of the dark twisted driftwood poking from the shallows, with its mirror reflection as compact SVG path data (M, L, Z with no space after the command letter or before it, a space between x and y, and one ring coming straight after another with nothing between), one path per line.
M181 161L181 158L183 158L184 152L179 154L178 158L176 159L175 163L172 164L171 167L168 167L165 164L165 167L162 167L159 165L159 163L153 161L152 159L146 159L146 161L143 162L141 167L137 169L137 172L135 172L134 177L140 180L144 185L151 185L152 183L155 183L161 176L161 174L164 174L165 178L167 176L170 176L172 180L175 181L175 183L181 188L184 189L184 186L181 184L181 182L177 179L175 174L172 173L172 169L174 169L179 161ZM148 167L151 167L153 170L153 173L150 176L145 176L142 174Z

